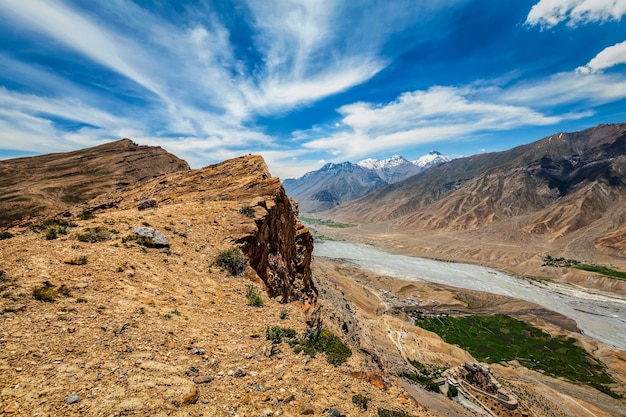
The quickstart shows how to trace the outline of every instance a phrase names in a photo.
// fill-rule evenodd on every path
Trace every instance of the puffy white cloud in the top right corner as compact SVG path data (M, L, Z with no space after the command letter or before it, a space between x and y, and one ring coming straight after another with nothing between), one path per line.
M570 27L620 20L626 0L540 0L528 13L526 23L551 28L566 21Z

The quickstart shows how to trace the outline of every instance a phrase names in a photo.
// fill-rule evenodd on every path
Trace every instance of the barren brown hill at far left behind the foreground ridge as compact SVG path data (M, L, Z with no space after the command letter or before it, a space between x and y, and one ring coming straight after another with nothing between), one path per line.
M189 165L160 147L122 139L93 148L0 161L0 226L61 211Z

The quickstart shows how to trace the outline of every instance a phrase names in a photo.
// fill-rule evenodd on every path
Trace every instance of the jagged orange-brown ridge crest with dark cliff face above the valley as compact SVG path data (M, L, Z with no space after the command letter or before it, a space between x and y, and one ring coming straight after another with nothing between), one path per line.
M130 209L155 199L158 207L181 202L231 202L237 213L230 240L241 246L270 297L300 301L311 310L317 292L311 279L313 236L298 220L296 204L278 178L271 176L263 158L247 155L205 168L163 175L135 187L109 193L77 206L74 212L99 208ZM314 317L312 317L313 319Z

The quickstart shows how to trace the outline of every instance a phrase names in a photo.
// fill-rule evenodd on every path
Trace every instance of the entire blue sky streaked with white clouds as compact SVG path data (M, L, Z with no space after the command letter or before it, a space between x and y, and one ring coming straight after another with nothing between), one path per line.
M626 0L0 0L0 159L495 152L626 122Z

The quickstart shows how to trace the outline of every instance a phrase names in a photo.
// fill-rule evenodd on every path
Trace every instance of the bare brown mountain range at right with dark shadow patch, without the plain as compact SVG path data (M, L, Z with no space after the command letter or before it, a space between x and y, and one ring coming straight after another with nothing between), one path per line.
M493 242L541 237L540 242L562 240L570 250L626 256L625 202L622 123L455 159L328 215L362 224L391 221L403 232L481 231L484 241Z

